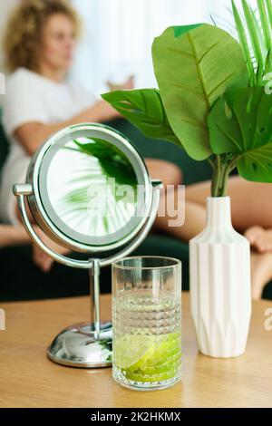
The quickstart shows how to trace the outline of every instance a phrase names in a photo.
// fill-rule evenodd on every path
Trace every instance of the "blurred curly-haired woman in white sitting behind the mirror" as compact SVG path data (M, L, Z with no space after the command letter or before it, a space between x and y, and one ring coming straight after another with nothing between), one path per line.
M0 188L0 217L17 228L12 188L25 181L31 156L44 140L66 126L120 117L107 102L95 99L70 78L79 33L78 15L61 0L25 0L7 24L5 56L11 75L6 82L3 125L11 145ZM130 78L122 88L132 86ZM159 160L146 162L152 178L160 174L165 185L180 183L176 166ZM9 230L0 228L0 247L9 241ZM16 238L27 238L22 228ZM35 256L36 262L41 265L42 258L42 266L45 262L44 269L49 269L50 259L36 249Z

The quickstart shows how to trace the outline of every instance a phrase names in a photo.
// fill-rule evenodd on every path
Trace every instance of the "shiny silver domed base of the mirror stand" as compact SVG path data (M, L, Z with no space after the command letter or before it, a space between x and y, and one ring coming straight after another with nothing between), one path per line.
M112 366L112 323L101 323L99 340L93 324L75 324L58 334L47 350L48 358L67 367Z

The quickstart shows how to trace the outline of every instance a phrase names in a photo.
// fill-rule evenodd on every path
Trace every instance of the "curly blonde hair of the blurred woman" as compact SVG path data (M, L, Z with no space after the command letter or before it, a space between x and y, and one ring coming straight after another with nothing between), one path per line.
M5 64L10 72L19 67L37 71L44 25L55 14L66 15L80 33L80 19L65 0L24 0L15 8L4 36Z

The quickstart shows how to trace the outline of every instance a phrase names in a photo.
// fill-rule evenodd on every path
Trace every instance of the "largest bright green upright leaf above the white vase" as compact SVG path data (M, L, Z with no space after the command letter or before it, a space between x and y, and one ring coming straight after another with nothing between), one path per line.
M154 40L152 54L172 130L190 157L207 159L208 113L228 84L247 73L238 42L209 24L170 27Z

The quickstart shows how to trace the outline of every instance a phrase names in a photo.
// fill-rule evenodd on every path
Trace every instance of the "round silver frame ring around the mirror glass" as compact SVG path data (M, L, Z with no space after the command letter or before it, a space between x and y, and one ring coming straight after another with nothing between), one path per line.
M128 160L131 161L131 166L135 170L138 179L137 183L144 185L145 189L144 200L141 206L141 215L139 216L138 220L136 220L135 225L133 225L133 227L129 228L125 232L122 232L121 237L115 238L114 241L104 245L101 243L87 244L85 241L80 241L77 238L77 233L72 232L70 234L67 232L67 230L66 232L63 231L63 226L60 227L60 223L62 222L61 220L56 225L48 214L46 208L44 208L43 197L46 185L44 184L44 181L42 186L40 184L41 176L42 179L44 179L46 177L46 172L50 167L50 161L47 161L46 158L48 159L52 156L53 150L56 148L59 150L69 140L73 140L76 137L79 138L87 136L92 138L95 137L95 135L96 137L97 135L100 135L100 138L103 140L114 144L114 146L116 146L119 150L121 150L122 153L126 155ZM139 179L141 180L140 182ZM147 215L151 211L152 184L141 154L134 148L131 140L124 137L120 132L115 131L111 127L103 124L82 123L70 126L63 129L62 131L55 133L51 138L46 140L44 145L34 154L27 171L26 183L32 187L32 193L27 196L28 205L40 228L42 228L47 236L51 237L56 243L78 252L104 252L124 246L139 233L144 223L146 222ZM129 222L129 224L130 223L131 222ZM128 224L126 224L126 226L127 225ZM124 228L121 228L121 230ZM72 228L70 229L73 231ZM117 231L117 234L118 232L119 231ZM83 234L80 235L83 236Z

